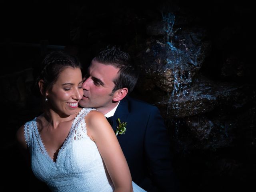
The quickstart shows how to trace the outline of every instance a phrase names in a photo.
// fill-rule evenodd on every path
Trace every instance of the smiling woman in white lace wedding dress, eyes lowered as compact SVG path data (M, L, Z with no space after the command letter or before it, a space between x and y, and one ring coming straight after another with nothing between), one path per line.
M132 182L112 127L95 109L80 108L80 62L61 51L42 62L38 86L44 113L16 137L34 175L53 192L145 192Z

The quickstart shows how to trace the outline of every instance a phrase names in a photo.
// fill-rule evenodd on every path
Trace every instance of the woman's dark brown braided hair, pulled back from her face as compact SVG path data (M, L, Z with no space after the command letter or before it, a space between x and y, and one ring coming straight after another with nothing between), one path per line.
M42 89L42 110L46 115L49 111L48 102L46 101L46 91L52 89L60 73L67 67L82 68L76 56L72 56L64 51L52 51L42 61L42 70L36 80L36 84L38 85L40 80L44 82Z

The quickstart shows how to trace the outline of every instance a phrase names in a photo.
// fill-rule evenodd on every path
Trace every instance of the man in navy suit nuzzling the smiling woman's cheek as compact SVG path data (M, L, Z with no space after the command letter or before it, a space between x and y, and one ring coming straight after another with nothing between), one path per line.
M127 122L117 138L128 162L132 180L148 192L174 192L170 143L158 108L128 97L138 79L130 56L115 46L96 56L82 84L80 106L96 108L116 132L118 118Z

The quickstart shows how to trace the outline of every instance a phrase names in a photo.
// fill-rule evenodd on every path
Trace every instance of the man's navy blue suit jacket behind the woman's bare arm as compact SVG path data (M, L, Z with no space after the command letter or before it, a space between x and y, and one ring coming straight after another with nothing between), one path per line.
M176 191L171 165L170 143L164 120L156 106L127 97L120 101L117 118L127 122L125 134L118 141L128 162L132 180L148 192Z

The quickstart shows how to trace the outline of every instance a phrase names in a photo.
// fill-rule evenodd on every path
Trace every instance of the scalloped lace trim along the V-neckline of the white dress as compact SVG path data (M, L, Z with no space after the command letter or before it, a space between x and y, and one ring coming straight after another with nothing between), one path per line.
M54 164L57 164L57 162L59 162L59 158L61 157L61 152L64 150L64 147L66 146L69 138L71 137L73 131L74 131L74 128L76 127L76 123L77 123L77 120L78 118L80 117L80 114L82 114L81 112L83 111L83 109L80 110L80 112L76 115L76 117L74 118L73 122L72 122L72 125L71 125L71 128L70 128L70 131L68 133L68 136L65 138L63 144L61 145L60 147L60 150L58 150L58 154L57 154L57 157L56 157L56 160L54 161L54 158L52 159L48 153L48 151L46 150L45 146L44 146L44 142L41 138L41 135L39 133L39 130L38 130L38 126L37 126L37 122L36 122L36 118L35 118L35 121L34 121L34 130L36 132L36 137L37 137L37 143L39 145L39 148L42 152L42 154L44 154L45 156L47 156L47 158Z

